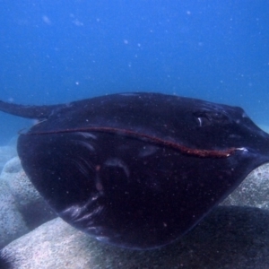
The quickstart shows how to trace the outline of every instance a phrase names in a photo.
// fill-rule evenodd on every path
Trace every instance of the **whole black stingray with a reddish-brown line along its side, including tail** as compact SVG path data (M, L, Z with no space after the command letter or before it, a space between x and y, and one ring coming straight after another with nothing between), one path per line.
M39 120L17 144L39 194L118 247L179 239L269 161L269 135L242 108L204 100L131 92L0 110Z

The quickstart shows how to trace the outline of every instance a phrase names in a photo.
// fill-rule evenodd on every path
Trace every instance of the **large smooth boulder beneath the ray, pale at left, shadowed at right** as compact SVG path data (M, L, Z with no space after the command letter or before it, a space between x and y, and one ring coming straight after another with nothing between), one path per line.
M268 268L269 212L216 208L168 247L137 251L108 246L61 219L49 221L2 250L12 268Z

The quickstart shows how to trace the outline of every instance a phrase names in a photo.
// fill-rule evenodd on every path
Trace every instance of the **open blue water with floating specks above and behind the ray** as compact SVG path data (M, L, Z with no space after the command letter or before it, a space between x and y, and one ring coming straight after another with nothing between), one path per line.
M0 1L0 99L52 104L161 91L269 126L269 2ZM30 121L0 114L0 144Z

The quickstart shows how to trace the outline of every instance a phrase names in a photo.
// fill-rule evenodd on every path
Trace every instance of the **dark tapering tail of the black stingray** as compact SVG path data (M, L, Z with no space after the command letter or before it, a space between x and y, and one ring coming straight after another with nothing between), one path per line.
M13 104L0 100L0 111L13 114L18 117L28 118L48 118L60 108L64 108L66 105L52 105L52 106L24 106L19 104Z

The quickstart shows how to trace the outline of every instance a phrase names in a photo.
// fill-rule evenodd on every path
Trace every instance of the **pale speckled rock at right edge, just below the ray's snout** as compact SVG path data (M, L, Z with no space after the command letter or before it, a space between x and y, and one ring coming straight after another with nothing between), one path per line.
M221 204L269 209L269 163L253 170Z

